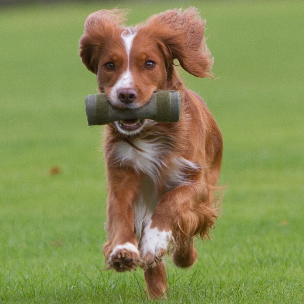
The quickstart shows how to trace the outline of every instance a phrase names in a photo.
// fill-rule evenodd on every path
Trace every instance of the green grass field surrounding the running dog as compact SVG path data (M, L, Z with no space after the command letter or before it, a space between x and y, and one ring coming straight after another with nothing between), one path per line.
M0 302L146 302L142 271L103 271L97 84L78 58L85 17L118 3L0 11ZM303 2L149 3L120 4L129 24L173 6L207 19L216 79L181 74L222 130L227 187L195 266L167 259L166 302L303 303Z

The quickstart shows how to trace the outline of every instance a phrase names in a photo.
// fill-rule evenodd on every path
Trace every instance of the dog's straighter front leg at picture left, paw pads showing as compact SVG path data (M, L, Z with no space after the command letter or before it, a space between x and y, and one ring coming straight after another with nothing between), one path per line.
M104 245L108 268L116 271L136 269L140 262L134 234L133 203L138 197L139 178L131 170L108 170L108 241Z

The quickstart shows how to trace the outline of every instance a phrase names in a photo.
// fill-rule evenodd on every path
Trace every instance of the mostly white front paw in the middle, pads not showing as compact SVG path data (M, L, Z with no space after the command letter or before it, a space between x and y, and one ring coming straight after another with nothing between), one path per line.
M173 241L171 231L160 231L151 228L151 222L144 228L140 241L140 253L143 264L154 267L168 253L170 242Z

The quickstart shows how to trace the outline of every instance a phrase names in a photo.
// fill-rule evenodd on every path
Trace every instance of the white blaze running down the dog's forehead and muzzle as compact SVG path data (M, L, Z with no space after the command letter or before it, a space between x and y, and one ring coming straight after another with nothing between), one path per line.
M126 54L127 54L127 60L128 60L128 65L127 65L127 70L124 71L116 84L113 86L110 92L110 99L112 102L115 104L116 102L119 102L117 98L117 92L120 89L123 88L133 88L133 78L132 74L130 72L130 52L133 44L133 39L136 36L136 29L134 28L127 28L121 33L121 38L123 40L123 44L125 46Z

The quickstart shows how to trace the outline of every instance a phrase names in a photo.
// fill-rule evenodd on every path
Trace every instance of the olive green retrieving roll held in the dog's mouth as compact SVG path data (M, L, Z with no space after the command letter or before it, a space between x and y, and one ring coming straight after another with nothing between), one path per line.
M146 118L162 123L177 122L181 114L181 96L177 91L155 91L150 100L137 109L114 108L105 93L85 98L88 125L105 125L117 120Z

